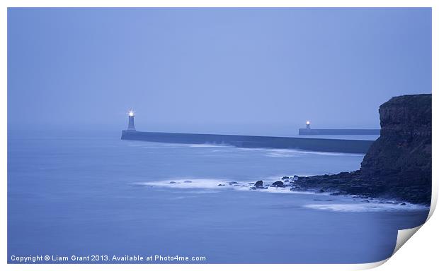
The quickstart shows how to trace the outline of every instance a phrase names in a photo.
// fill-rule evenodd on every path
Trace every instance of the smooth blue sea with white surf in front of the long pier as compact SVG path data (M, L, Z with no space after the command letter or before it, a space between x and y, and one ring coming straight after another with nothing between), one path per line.
M428 207L392 200L249 188L260 179L352 171L363 155L119 136L9 136L9 263L13 255L370 263L392 255L398 229L428 215Z

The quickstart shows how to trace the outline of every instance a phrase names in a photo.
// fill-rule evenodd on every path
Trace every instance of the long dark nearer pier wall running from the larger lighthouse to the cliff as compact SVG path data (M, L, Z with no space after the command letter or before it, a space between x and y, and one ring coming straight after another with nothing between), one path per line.
M235 147L299 149L315 152L366 153L374 141L326 138L288 138L258 135L216 135L203 133L161 133L122 131L122 140L142 140L160 143L221 144Z

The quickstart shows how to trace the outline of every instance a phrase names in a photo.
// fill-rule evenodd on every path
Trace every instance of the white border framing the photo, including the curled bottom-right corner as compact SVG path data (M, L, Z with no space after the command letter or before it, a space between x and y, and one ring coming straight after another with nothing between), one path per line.
M0 269L1 270L223 270L224 268L232 268L233 270L241 270L242 268L251 269L278 269L278 270L364 270L372 267L377 267L385 263L387 260L383 260L377 263L361 264L361 265L7 265L7 250L6 250L6 214L7 214L7 167L6 167L6 147L7 147L7 8L8 7L431 7L433 18L433 61L432 61L432 79L433 90L436 90L437 83L435 78L439 78L438 74L438 1L408 1L408 0L309 0L309 1L288 1L288 0L28 0L28 1L13 1L4 0L0 1L0 126L1 130L1 156L0 156L0 176L1 176L1 203L0 203L0 217L1 217L1 231L0 240L2 241L0 246ZM438 99L436 95L433 95L433 135L436 133L438 127L438 113L435 110L435 105L438 105ZM432 217L433 210L438 200L438 174L434 170L438 168L438 160L436 154L438 153L438 147L433 143L433 199L431 205L431 212L429 214L429 220L426 226L419 229L418 238L416 240L410 240L411 247L402 247L398 253L396 253L389 260L389 263L382 265L378 269L380 270L401 270L401 268L411 267L418 268L419 266L427 268L437 266L437 255L435 255L435 249L438 248L438 233L436 229L439 229L439 220L437 216ZM422 269L421 269L422 270Z

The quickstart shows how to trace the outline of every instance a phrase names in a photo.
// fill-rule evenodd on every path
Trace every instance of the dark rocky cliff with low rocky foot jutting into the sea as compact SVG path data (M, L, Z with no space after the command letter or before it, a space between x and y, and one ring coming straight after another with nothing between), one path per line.
M358 171L300 177L299 188L431 202L431 95L393 97L380 106L380 138Z

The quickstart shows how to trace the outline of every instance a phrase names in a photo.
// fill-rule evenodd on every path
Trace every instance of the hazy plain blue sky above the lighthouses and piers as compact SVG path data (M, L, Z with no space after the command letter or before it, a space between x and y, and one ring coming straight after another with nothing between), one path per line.
M431 93L431 8L8 8L8 131L380 128Z

